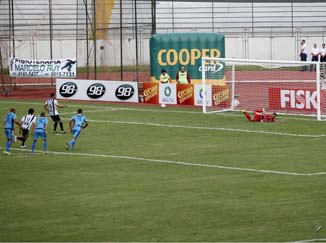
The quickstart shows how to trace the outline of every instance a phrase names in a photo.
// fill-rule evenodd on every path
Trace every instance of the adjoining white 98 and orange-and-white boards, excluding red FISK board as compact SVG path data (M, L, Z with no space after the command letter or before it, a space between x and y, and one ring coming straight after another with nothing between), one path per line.
M99 100L114 102L139 102L138 83L81 79L57 79L56 94L59 99ZM202 85L144 83L142 101L151 104L203 104ZM206 105L229 105L229 89L225 86L206 85Z

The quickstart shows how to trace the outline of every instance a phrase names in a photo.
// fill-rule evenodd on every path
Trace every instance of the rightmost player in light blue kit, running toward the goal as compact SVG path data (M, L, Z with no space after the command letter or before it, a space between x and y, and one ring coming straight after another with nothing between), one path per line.
M83 110L78 109L77 114L74 115L69 121L70 131L72 132L73 138L67 143L66 149L74 149L76 140L81 131L88 126L87 118L83 115Z

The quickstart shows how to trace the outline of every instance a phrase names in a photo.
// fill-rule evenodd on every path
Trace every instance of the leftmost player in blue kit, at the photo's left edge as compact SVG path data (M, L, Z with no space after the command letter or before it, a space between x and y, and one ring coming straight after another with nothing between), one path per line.
M14 142L14 125L20 126L20 122L16 120L16 109L11 108L10 112L5 116L4 126L5 126L5 135L7 137L7 143L3 154L10 155L10 147Z

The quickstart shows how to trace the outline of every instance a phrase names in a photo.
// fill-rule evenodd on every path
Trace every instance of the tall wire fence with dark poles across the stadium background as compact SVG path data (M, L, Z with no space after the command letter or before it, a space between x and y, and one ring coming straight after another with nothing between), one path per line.
M325 41L325 11L325 2L0 0L2 63L77 57L78 78L138 81L149 37L167 32L223 33L227 57L296 60L302 38L308 48Z

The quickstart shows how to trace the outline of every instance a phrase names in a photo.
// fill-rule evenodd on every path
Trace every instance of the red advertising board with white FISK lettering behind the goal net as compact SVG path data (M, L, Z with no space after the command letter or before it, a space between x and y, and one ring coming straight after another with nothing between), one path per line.
M317 110L317 91L313 89L269 88L269 106L278 110Z

